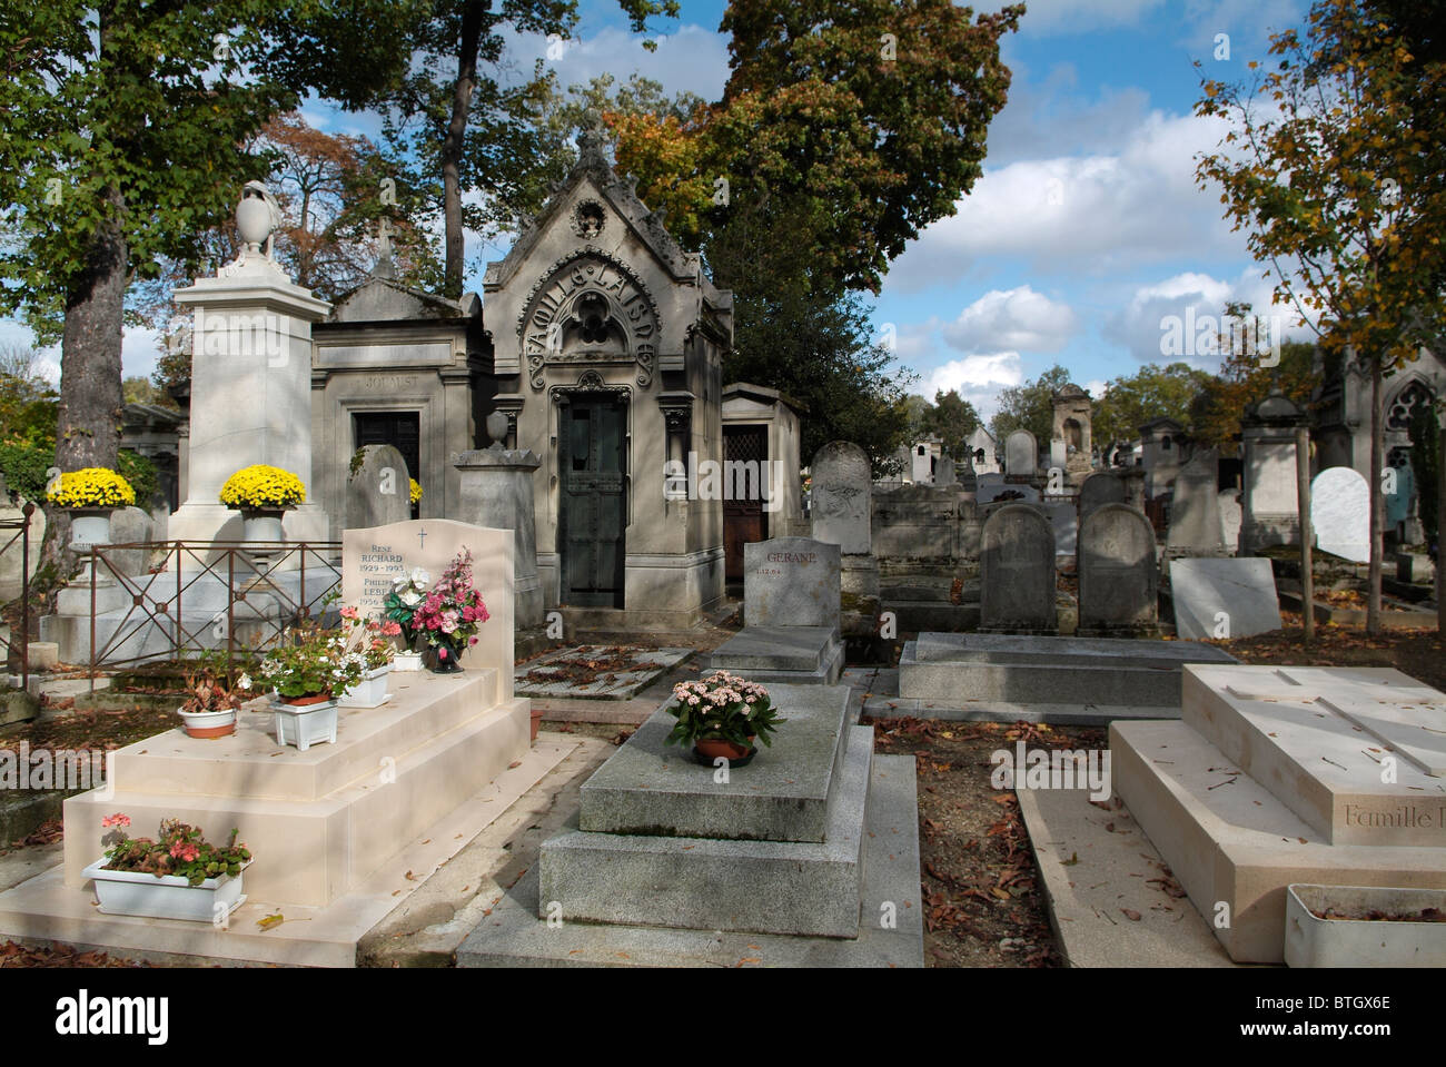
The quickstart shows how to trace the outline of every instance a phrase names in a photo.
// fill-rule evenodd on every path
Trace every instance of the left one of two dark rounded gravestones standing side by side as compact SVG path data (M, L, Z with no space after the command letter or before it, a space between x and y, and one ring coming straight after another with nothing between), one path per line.
M980 570L980 630L1056 629L1054 529L1038 509L1006 505L985 520Z

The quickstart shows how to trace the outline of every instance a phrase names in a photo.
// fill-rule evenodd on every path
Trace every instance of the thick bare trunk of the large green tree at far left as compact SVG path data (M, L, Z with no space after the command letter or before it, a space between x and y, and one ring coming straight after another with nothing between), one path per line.
M129 247L121 228L124 201L107 189L106 223L85 254L85 266L65 301L61 334L61 405L55 427L55 466L62 471L82 467L114 470L120 451L121 377L120 347L126 260ZM40 548L42 588L69 577L75 555L69 551L69 513L45 509L45 544Z

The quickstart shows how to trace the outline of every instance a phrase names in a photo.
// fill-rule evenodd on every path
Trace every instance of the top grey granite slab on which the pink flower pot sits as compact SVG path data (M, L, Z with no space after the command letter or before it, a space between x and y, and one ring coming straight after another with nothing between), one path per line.
M667 745L677 720L667 708L583 785L578 827L590 833L823 841L829 800L843 771L849 690L774 685L785 721L771 747L746 768L716 779L688 746ZM671 703L671 701L669 701Z

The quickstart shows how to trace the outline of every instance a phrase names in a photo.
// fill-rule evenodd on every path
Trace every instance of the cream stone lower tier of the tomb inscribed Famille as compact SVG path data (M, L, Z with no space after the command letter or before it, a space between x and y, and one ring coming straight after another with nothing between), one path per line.
M1184 723L1116 721L1109 747L1115 794L1236 963L1284 960L1293 882L1446 889L1446 850L1329 844Z

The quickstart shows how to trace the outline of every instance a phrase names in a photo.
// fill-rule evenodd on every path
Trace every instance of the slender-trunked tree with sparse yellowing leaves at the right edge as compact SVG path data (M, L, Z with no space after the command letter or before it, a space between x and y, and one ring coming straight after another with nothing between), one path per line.
M1223 189L1226 217L1271 265L1277 301L1316 311L1322 348L1369 367L1366 630L1378 633L1382 380L1417 359L1429 324L1443 321L1446 296L1437 236L1446 224L1446 145L1413 124L1413 104L1423 87L1446 91L1446 67L1414 64L1401 32L1359 0L1317 0L1303 33L1272 35L1271 55L1275 69L1249 87L1203 81L1196 113L1225 117L1232 129L1220 150L1200 158L1197 178Z

